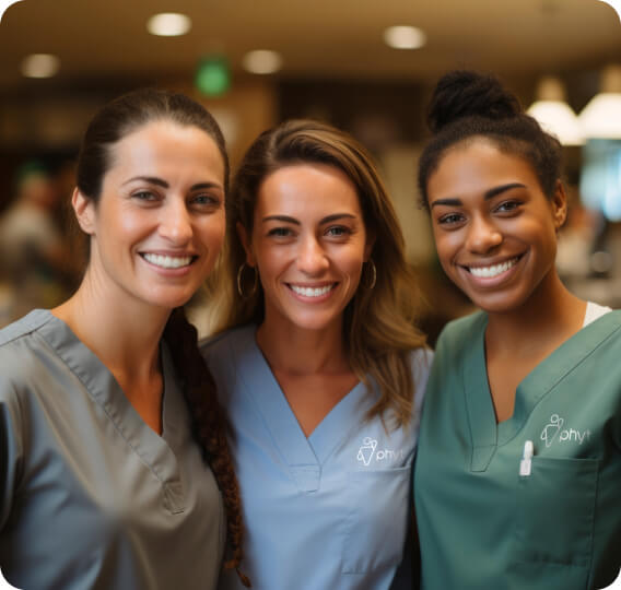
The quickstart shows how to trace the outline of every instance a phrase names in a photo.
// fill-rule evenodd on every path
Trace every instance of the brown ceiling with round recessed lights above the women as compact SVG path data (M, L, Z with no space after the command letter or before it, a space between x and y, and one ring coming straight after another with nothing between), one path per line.
M149 16L172 11L192 19L188 35L147 32ZM426 46L387 47L395 24L421 27ZM207 54L245 75L242 58L257 48L282 54L277 79L425 81L461 66L536 76L621 61L621 24L598 0L23 0L0 23L0 92L186 75ZM60 58L54 81L21 76L33 52Z

